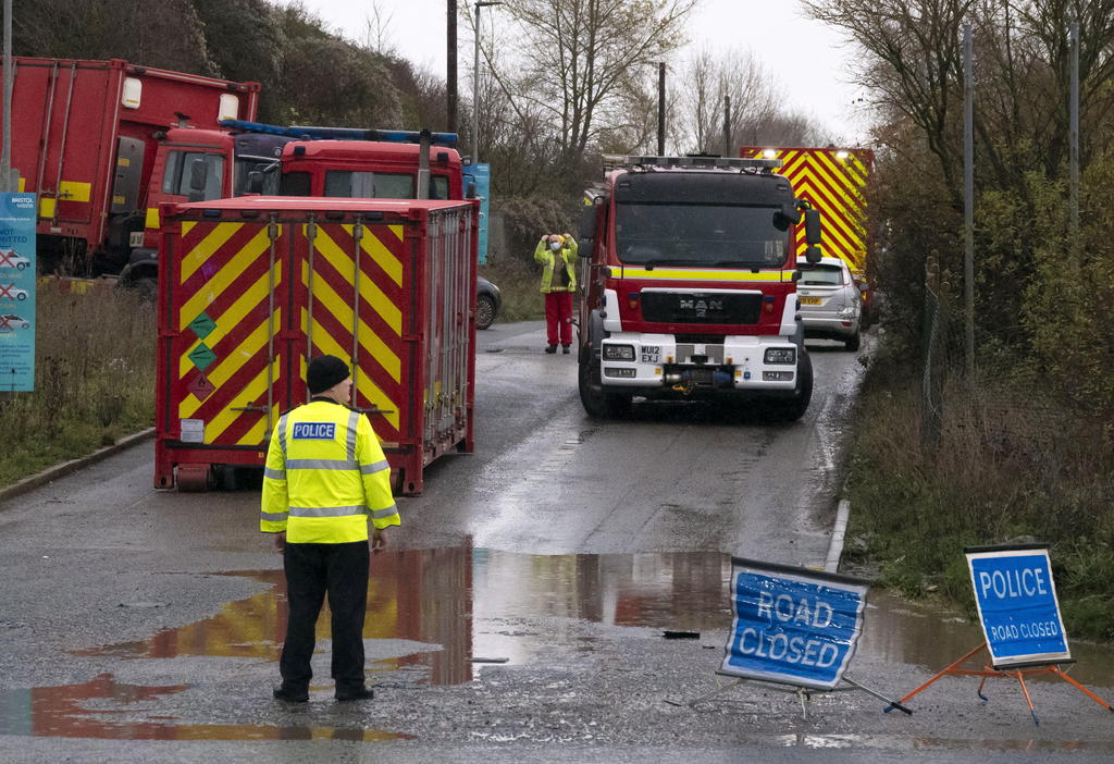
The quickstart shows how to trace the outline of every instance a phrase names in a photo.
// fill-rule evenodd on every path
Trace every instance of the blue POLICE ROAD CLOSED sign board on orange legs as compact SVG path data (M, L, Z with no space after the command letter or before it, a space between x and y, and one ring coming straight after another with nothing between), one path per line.
M1069 660L1047 547L981 547L966 554L994 667Z

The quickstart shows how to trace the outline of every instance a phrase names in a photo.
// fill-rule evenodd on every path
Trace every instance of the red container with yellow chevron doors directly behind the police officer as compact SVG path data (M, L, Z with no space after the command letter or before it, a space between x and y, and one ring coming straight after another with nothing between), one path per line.
M395 489L472 450L478 204L245 197L164 205L155 484L258 466L307 359L354 360Z

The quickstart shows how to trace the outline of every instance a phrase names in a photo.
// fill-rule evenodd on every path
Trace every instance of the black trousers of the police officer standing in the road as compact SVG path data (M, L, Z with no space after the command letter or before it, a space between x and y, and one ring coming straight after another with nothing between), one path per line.
M284 686L305 688L310 685L314 628L326 591L333 616L333 679L338 687L363 686L368 561L367 541L286 545L283 569L290 618L278 662Z

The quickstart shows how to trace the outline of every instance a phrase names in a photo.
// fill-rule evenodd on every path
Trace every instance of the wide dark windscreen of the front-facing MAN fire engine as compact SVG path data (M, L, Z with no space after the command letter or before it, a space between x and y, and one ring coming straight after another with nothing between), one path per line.
M727 204L616 204L619 261L632 265L776 267L789 233L774 226L773 207Z

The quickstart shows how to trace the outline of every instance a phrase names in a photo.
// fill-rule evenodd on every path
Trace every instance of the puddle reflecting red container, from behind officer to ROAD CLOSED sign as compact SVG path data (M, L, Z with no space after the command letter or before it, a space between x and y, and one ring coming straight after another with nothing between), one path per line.
M234 575L272 587L225 605L212 618L165 629L145 641L76 654L277 660L286 630L282 571ZM576 634L575 621L727 629L730 576L731 559L719 552L531 556L470 547L384 552L372 560L364 639L405 639L441 649L377 660L369 645L369 666L423 667L430 684L451 685L473 678L476 657L515 664L592 649L590 640ZM521 625L537 618L554 623L544 633ZM323 614L317 639L329 636Z

